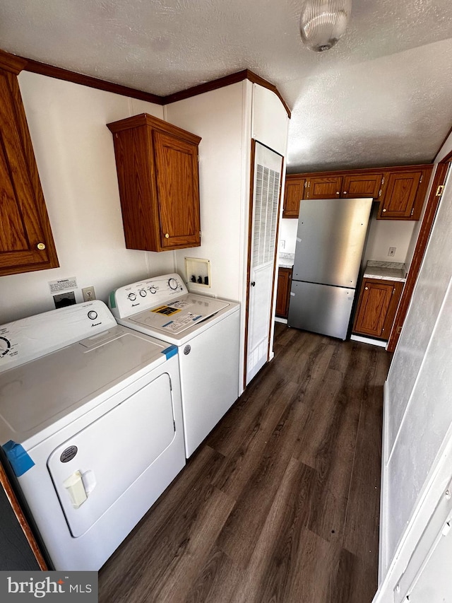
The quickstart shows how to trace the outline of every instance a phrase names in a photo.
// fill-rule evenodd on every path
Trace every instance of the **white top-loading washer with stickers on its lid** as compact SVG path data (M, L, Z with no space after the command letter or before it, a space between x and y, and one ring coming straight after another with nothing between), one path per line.
M239 304L164 274L113 291L109 307L119 324L178 347L189 458L239 396Z

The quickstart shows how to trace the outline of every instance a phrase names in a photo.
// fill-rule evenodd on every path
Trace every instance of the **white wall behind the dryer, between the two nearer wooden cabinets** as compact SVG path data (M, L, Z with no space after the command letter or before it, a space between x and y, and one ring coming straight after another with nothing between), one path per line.
M0 278L0 324L52 310L49 281L112 288L173 271L172 252L126 250L108 122L160 105L23 71L18 76L60 267Z

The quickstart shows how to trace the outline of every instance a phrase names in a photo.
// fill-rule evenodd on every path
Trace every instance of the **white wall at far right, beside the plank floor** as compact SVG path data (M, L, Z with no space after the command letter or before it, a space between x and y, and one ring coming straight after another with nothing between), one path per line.
M452 140L439 156L446 156L451 145ZM386 382L380 560L383 582L375 602L390 600L452 476L451 225L449 175ZM434 585L432 589L434 595Z

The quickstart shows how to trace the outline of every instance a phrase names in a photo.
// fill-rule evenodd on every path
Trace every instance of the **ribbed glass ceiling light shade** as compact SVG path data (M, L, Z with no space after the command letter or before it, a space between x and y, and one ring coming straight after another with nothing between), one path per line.
M315 52L330 49L345 32L352 0L305 0L299 29L304 45Z

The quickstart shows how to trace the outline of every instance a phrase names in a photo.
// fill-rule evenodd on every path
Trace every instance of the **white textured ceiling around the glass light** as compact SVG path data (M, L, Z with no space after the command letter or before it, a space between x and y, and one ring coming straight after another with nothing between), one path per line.
M0 0L0 48L167 95L242 69L292 110L287 171L432 161L452 126L451 0L353 0L314 53L295 0Z

